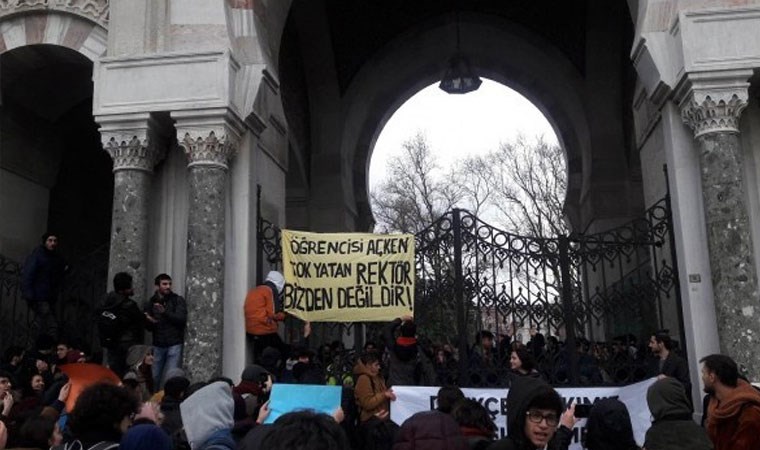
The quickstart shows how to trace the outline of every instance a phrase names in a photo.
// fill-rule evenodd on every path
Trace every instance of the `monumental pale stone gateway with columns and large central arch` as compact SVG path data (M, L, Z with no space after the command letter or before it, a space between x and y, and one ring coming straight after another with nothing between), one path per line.
M705 354L760 373L760 15L754 1L710 4L112 0L92 18L105 0L24 0L0 2L0 34L6 49L80 42L69 46L92 54L119 211L109 271L180 281L186 363L204 378L244 364L257 209L278 226L366 230L378 130L443 73L458 24L476 72L519 90L557 131L575 231L639 216L663 197L668 164L696 395ZM64 19L27 27L38 10ZM88 17L100 25L76 31ZM104 36L106 18L103 47L92 33Z

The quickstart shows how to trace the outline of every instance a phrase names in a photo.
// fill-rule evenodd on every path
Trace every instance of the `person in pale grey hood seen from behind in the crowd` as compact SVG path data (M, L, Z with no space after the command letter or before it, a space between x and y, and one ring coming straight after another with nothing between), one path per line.
M235 401L228 383L217 381L195 391L179 407L191 450L234 450Z

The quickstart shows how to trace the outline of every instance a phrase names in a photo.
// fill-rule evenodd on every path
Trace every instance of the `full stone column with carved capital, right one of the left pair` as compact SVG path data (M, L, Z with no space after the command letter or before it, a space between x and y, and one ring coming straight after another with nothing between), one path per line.
M226 110L177 112L172 117L188 157L190 195L184 365L189 377L200 381L221 375L227 170L242 124Z

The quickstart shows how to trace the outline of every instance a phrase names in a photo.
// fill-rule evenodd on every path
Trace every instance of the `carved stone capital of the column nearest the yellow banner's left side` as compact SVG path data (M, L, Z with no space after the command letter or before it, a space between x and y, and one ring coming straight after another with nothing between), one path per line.
M176 112L177 142L188 158L188 167L223 170L240 148L242 121L227 110Z

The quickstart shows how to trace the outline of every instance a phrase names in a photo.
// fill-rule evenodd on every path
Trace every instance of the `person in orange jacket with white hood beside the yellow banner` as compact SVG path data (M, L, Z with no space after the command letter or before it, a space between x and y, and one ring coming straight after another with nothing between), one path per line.
M287 346L277 334L279 322L285 320L285 313L280 308L278 297L285 287L285 278L280 272L267 274L264 284L256 286L245 297L245 333L249 347L253 347L253 362L259 361L261 353L267 347L274 347L281 355L286 355Z

